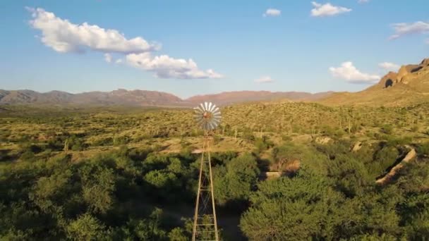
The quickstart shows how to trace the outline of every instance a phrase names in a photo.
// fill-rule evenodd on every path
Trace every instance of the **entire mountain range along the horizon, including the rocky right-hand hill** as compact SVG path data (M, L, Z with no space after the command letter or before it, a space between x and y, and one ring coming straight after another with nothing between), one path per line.
M375 85L360 92L269 92L236 91L196 95L181 99L174 94L148 90L117 89L111 92L84 92L71 94L52 91L0 89L0 105L6 104L74 104L92 106L194 106L202 101L213 101L219 106L246 101L316 101L330 106L405 106L429 102L429 58L419 64L401 66L398 72L389 72Z

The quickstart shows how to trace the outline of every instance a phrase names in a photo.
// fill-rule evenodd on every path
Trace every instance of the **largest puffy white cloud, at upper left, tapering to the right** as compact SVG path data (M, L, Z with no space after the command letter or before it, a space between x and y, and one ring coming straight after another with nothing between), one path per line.
M118 30L106 30L97 25L83 23L76 25L68 20L58 18L54 13L43 8L28 8L32 13L30 25L42 31L42 42L61 53L85 49L102 51L104 53L142 53L153 51L159 46L150 44L142 37L126 39Z

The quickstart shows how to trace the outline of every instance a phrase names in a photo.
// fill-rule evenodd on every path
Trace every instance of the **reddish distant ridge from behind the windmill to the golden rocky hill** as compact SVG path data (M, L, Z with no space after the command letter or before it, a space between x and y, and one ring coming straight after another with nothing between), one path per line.
M327 97L333 92L320 92L311 94L308 92L269 92L269 91L236 91L222 92L219 94L197 95L186 99L191 103L200 103L201 101L213 101L219 105L234 104L244 101L270 101L277 99L289 99L291 101L315 101Z

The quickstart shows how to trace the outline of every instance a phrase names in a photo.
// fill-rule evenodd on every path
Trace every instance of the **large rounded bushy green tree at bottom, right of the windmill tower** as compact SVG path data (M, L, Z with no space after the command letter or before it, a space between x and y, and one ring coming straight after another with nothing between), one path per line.
M250 240L332 238L332 219L342 201L321 176L301 170L296 178L260 183L240 227Z

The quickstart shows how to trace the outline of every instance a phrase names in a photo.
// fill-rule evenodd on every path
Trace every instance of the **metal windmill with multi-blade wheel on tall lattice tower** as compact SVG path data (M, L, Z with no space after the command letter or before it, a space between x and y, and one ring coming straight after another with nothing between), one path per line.
M210 134L220 123L219 108L212 102L204 102L194 108L195 121L204 130L198 192L195 202L192 240L219 240L216 210L214 208L213 177L210 163Z

